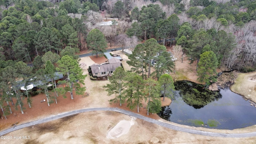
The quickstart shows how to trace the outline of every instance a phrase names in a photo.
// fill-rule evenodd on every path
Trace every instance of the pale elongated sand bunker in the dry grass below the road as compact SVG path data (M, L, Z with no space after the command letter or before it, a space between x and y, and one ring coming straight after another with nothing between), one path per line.
M127 134L130 130L130 127L134 124L133 119L128 120L121 120L114 126L110 131L108 131L107 138L114 139L119 138L123 134Z

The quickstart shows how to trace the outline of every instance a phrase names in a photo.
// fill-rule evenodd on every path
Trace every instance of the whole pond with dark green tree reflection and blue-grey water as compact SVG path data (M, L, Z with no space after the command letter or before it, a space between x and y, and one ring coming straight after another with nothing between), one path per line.
M162 107L161 118L188 126L228 129L256 124L256 108L229 88L217 92L189 81L174 83L170 106Z

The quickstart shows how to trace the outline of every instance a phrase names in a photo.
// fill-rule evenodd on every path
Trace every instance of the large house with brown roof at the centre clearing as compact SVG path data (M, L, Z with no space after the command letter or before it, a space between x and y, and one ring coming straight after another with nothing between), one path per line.
M111 58L108 62L103 64L91 65L92 76L103 77L112 74L116 68L121 66L121 62L117 58Z

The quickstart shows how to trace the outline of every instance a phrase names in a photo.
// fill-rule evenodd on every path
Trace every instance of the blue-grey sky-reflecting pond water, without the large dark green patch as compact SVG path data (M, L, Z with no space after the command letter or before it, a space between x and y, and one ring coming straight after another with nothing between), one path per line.
M228 130L256 124L256 108L230 89L220 90L221 95L199 108L187 104L188 100L184 102L181 91L176 91L176 98L170 106L162 107L160 117L188 126L202 127L203 124L206 128Z

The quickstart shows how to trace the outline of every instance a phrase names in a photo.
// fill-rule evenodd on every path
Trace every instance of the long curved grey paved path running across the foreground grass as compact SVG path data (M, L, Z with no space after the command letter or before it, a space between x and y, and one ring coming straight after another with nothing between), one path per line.
M181 131L181 132L188 132L188 133L191 133L191 134L200 134L200 135L204 135L204 136L216 136L216 137L228 137L228 138L243 138L243 137L256 136L256 132L228 134L228 133L206 132L206 131L201 131L201 130L193 130L193 129L189 129L189 128L182 128L182 127L179 127L179 126L174 126L172 124L168 124L168 123L165 123L165 122L160 122L158 120L154 120L152 118L148 118L148 117L142 116L140 114L136 114L136 113L133 113L133 112L130 112L130 111L127 111L127 110L122 110L122 109L119 109L119 108L85 108L85 109L80 109L80 110L74 110L74 111L71 111L71 112L64 112L64 113L61 113L61 114L58 114L58 115L55 115L55 116L50 116L50 117L43 118L43 119L40 119L40 120L36 120L36 121L33 121L33 122L20 124L18 126L14 126L13 128L3 130L2 132L0 132L0 136L2 136L4 134L7 134L9 132L12 132L14 130L19 130L21 128L26 128L28 126L34 126L36 124L41 124L41 123L44 123L44 122L50 122L52 120L57 120L59 118L64 118L66 116L70 116L70 115L73 115L73 114L78 114L78 113L81 113L81 112L90 112L90 111L120 112L122 114L126 114L126 115L129 115L129 116L134 116L136 118L140 118L140 119L145 120L147 122L151 122L151 123L154 123L154 124L158 124L160 126L164 126L166 128L170 128L172 130L178 130L178 131Z

